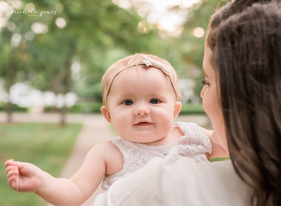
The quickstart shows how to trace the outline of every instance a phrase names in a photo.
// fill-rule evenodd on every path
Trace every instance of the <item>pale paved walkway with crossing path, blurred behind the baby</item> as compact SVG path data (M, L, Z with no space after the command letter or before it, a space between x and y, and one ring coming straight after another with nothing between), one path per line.
M59 114L13 114L13 122L60 122ZM0 122L6 122L5 113L0 113ZM195 122L199 125L209 125L210 120L205 116L179 116L176 120L179 122ZM60 177L70 178L81 167L84 157L88 151L96 144L110 140L115 136L110 128L110 124L106 122L102 115L89 114L68 114L67 122L82 123L83 127L74 145ZM104 192L99 186L95 193L81 206L90 206L93 204L95 197ZM51 206L51 204L47 204Z

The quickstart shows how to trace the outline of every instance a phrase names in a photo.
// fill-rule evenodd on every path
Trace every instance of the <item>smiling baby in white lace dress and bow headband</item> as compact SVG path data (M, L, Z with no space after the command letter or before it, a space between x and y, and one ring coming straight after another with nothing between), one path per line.
M119 136L94 146L70 179L54 178L30 163L8 160L5 167L12 189L35 192L53 205L81 205L102 179L106 190L150 159L165 157L173 147L183 157L207 161L211 131L194 123L173 124L181 110L181 92L177 74L166 60L142 54L121 59L103 75L102 89L102 114ZM216 155L213 149L211 157Z

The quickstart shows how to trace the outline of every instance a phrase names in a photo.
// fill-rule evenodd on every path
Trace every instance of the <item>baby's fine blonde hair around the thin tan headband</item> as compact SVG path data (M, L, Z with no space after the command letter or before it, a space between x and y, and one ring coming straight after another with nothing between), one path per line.
M103 78L101 80L101 87L103 91L103 105L106 105L106 99L108 95L108 87L111 86L112 80L115 78L116 74L119 74L124 70L124 68L130 69L130 67L133 66L142 66L142 67L147 67L146 65L143 65L143 55L163 64L164 66L168 66L172 68L172 73L173 75L170 76L170 79L173 81L174 84L174 90L175 90L175 95L177 101L180 101L182 98L181 91L178 87L178 75L175 71L175 69L172 67L172 65L165 59L161 59L157 56L154 55L149 55L149 54L134 54L128 57L125 57L123 59L118 60L115 62L113 65L111 65L106 72L103 75ZM172 84L172 82L171 82Z

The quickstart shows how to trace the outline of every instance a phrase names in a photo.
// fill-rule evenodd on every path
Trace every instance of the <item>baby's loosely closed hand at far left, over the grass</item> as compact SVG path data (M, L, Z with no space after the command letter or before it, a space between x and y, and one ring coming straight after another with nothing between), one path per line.
M5 162L8 185L19 192L35 192L41 184L44 173L39 167L27 162L12 159Z

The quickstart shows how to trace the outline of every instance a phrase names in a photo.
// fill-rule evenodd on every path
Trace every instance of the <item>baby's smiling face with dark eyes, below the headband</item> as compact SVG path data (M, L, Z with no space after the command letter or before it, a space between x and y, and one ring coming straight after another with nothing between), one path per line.
M176 102L172 84L160 69L129 68L114 79L107 120L124 139L153 144L170 131Z

